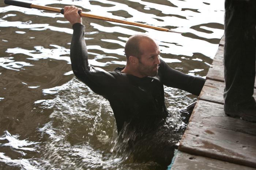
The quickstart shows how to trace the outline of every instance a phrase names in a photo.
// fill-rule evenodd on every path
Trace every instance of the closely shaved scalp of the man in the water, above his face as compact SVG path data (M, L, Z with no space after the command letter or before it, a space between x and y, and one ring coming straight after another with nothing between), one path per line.
M144 41L155 42L145 34L135 34L129 37L124 48L127 62L129 61L129 56L135 56L136 58L140 59L140 56L143 54L143 49L141 49L141 46L143 45Z

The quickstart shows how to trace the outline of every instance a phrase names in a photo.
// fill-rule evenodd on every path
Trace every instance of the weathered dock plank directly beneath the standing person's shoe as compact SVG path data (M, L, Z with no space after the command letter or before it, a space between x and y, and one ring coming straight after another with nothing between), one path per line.
M198 100L189 122L256 136L256 123L226 116L223 104Z

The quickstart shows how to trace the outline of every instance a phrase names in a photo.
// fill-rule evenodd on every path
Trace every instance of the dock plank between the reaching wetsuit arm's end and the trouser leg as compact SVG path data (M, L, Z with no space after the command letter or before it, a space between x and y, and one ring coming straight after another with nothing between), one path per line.
M214 80L206 80L204 87L201 91L199 99L210 101L214 103L224 104L223 92L225 88L224 82ZM253 95L256 98L256 91Z

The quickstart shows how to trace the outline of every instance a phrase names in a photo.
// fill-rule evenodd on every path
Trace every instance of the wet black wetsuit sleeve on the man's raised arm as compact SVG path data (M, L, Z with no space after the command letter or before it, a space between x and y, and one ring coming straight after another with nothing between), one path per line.
M71 66L75 76L95 93L105 96L113 84L114 76L109 72L88 63L88 52L84 41L84 25L73 24L70 47Z

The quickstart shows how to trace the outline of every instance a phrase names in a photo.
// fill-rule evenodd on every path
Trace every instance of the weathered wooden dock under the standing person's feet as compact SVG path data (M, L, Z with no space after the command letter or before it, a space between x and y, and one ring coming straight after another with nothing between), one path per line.
M169 169L256 170L256 123L231 118L223 111L224 41L222 37Z

